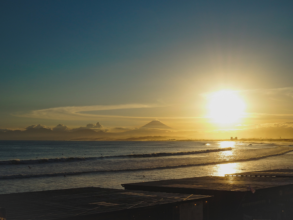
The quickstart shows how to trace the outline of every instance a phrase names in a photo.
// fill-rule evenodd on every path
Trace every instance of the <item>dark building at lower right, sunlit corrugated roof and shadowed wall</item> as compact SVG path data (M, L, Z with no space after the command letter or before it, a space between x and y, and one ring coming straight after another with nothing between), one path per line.
M262 171L259 171L262 172ZM293 175L293 170L287 170ZM293 178L205 176L122 184L125 189L214 196L210 219L288 219L293 216Z

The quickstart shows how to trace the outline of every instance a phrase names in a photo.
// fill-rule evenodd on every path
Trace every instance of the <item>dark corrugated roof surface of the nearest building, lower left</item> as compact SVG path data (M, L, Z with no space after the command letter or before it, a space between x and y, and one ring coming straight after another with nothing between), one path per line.
M85 187L0 194L9 220L49 220L195 201L210 196Z

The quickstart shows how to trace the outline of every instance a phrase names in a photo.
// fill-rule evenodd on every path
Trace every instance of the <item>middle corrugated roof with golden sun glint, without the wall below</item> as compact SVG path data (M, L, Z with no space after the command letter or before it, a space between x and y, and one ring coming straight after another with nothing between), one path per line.
M170 187L185 189L212 189L222 191L247 191L248 186L253 186L254 189L263 189L290 184L293 184L293 178L205 176L151 182L127 183L121 185L126 189L133 189L132 187L135 186L135 188L139 190L143 190L143 187Z

